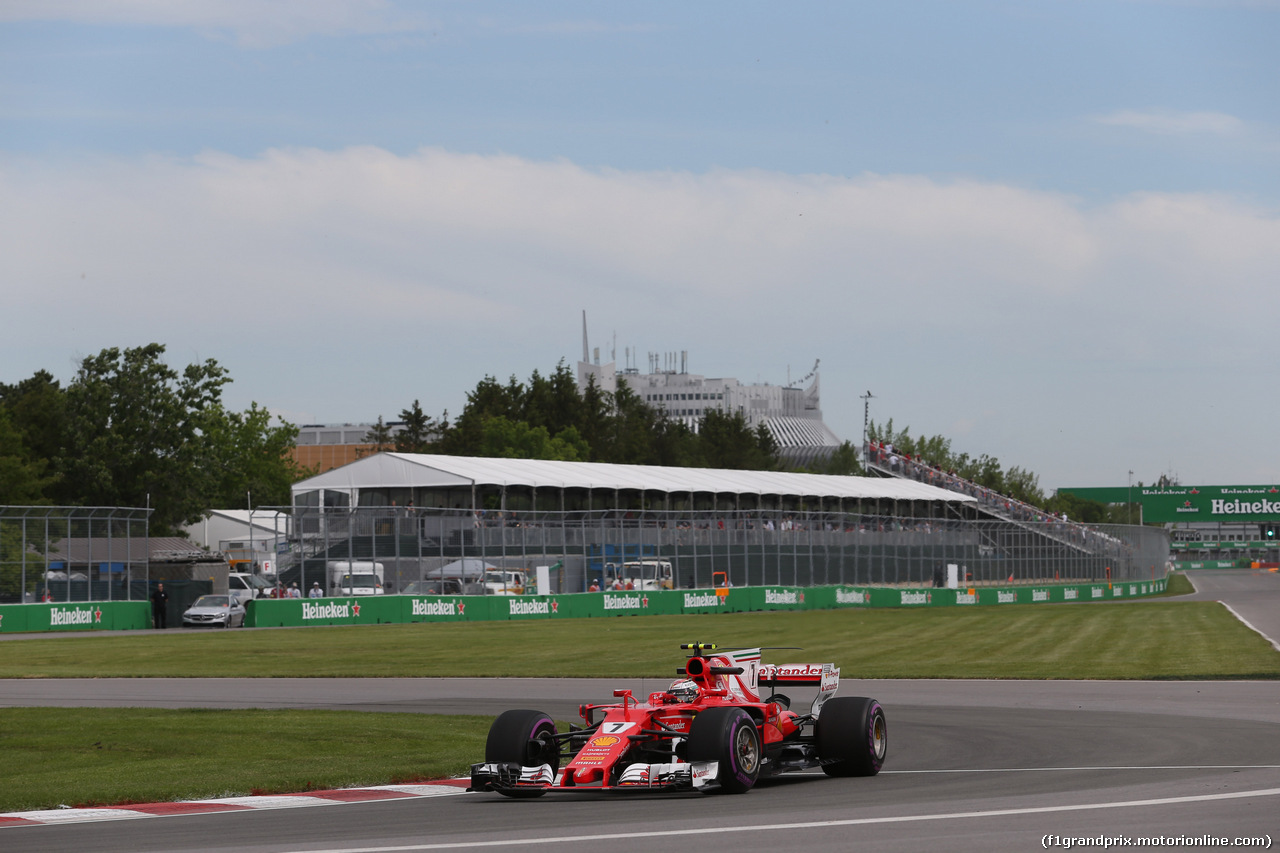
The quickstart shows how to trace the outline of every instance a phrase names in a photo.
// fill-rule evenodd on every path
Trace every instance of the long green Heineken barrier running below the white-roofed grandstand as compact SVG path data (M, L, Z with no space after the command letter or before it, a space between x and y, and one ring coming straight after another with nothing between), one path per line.
M741 613L844 607L1070 603L1165 592L1166 579L992 588L744 587L557 596L358 596L250 602L247 625L376 625L673 613Z

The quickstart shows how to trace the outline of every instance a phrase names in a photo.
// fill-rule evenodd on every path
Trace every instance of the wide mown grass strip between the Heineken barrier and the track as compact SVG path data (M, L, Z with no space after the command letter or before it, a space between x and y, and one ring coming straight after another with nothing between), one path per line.
M838 610L9 640L0 678L646 676L680 643L799 646L846 678L1280 678L1213 602Z

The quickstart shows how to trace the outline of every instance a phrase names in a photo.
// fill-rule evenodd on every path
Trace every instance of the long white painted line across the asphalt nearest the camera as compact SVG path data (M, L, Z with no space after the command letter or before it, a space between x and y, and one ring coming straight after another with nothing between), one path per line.
M406 844L397 847L343 847L306 850L306 853L399 853L404 850L463 850L486 847L532 847L535 844L599 844L630 839L660 838L673 839L681 835L712 835L723 833L768 833L795 831L800 829L823 829L832 826L869 826L874 824L910 824L914 821L950 821L974 817L1010 817L1018 815L1051 815L1053 812L1085 812L1102 808L1149 808L1152 806L1178 806L1181 803L1211 803L1224 799L1251 799L1256 797L1280 797L1280 788L1261 790L1242 790L1230 794L1201 794L1198 797L1164 797L1160 799L1132 799L1124 803L1080 803L1078 806L1042 806L1036 808L998 808L984 812L942 812L937 815L902 815L899 817L855 817L842 821L805 821L799 824L760 824L755 826L703 826L687 830L662 830L653 833L611 833L602 835L559 835L556 838L517 838L494 841L444 841L439 844ZM302 852L300 852L302 853Z

